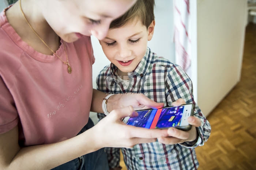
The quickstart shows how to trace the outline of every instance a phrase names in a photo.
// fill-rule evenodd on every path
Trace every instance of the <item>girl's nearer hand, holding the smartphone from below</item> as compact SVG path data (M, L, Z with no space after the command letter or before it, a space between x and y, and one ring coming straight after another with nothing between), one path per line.
M135 144L155 142L157 138L168 136L167 130L127 125L122 121L122 118L127 116L135 117L138 113L132 106L116 109L87 130L86 133L91 133L88 136L94 136L95 147L132 148Z

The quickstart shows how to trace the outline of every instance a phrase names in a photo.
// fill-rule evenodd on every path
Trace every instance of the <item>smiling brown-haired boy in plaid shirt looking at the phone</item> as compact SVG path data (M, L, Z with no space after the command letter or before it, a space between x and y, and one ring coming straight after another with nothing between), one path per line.
M171 106L179 98L187 104L194 104L194 116L201 124L188 131L194 135L182 138L184 140L170 137L174 142L169 144L158 140L137 144L133 148L121 148L121 151L128 170L197 169L199 163L194 148L203 146L209 138L210 123L194 101L192 82L187 74L180 66L158 57L147 47L147 41L154 33L154 5L154 0L138 0L110 24L108 34L100 44L111 63L99 73L97 88L113 94L142 93L165 106ZM104 116L98 113L99 119ZM172 130L177 134L184 133ZM110 169L121 169L120 149L105 148L105 151Z

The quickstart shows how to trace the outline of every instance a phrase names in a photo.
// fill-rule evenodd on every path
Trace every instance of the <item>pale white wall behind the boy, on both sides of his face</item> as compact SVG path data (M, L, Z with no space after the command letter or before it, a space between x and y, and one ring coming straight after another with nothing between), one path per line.
M175 62L174 44L173 44L173 0L156 0L155 1L155 31L148 47L159 56L165 57ZM110 62L103 53L98 40L91 36L95 63L93 65L93 87L96 88L96 77L102 68ZM91 112L90 117L94 123L97 123L97 116Z

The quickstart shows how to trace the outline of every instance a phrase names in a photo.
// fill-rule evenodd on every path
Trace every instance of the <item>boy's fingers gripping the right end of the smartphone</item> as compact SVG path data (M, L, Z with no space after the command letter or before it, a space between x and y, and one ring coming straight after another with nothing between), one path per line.
M182 104L186 104L186 103L181 98L173 102L174 106L180 106ZM167 131L169 137L158 138L158 142L164 143L164 144L176 144L176 143L194 141L198 137L196 127L199 127L201 125L201 121L198 117L190 116L188 117L188 123L192 125L191 130L182 131L177 128L171 127Z

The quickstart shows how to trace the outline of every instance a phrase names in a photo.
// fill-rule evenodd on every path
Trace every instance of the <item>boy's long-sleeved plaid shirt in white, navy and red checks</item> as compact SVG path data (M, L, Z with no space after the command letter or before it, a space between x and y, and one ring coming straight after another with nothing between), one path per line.
M199 138L194 143L166 145L159 142L137 144L133 148L121 148L128 170L178 170L197 169L195 147L202 146L210 136L211 126L193 98L192 82L180 66L165 58L158 57L147 48L146 54L133 72L129 72L129 82L117 78L117 67L111 63L104 67L97 77L97 89L106 93L143 93L156 102L172 105L183 98L193 103L194 116L201 120L197 128ZM98 113L99 119L104 114ZM120 149L105 148L110 168L119 166Z

